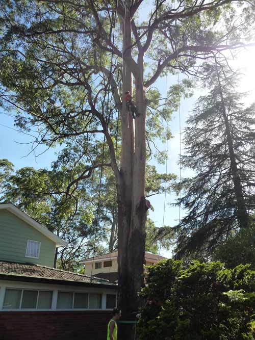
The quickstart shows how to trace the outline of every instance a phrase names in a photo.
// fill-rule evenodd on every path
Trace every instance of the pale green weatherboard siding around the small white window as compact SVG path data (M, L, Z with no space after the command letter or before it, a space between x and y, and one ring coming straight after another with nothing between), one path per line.
M39 258L25 257L28 240L41 242ZM53 267L56 244L7 210L0 211L0 260Z

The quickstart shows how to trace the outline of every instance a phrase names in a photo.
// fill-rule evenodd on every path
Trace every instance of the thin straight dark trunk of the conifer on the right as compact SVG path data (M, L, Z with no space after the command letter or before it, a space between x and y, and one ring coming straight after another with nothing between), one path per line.
M216 73L217 73L220 97L221 97L222 114L223 114L225 128L226 128L228 152L230 153L231 172L232 172L234 190L235 190L235 195L236 195L236 200L237 200L237 219L238 219L240 227L245 228L248 225L248 215L246 211L246 205L245 205L241 180L239 177L237 163L236 163L236 155L235 155L234 146L233 146L230 123L228 121L228 117L226 114L225 101L224 101L224 96L222 92L216 57L215 57L215 64L216 64Z

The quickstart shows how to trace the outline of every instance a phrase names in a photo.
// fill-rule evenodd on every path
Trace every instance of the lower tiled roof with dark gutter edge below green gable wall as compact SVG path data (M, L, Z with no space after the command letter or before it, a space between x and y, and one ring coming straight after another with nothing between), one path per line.
M116 288L116 285L109 280L87 276L60 269L49 268L40 265L21 264L9 261L0 261L0 279L15 281L33 281L50 284L68 284L68 285L104 285Z

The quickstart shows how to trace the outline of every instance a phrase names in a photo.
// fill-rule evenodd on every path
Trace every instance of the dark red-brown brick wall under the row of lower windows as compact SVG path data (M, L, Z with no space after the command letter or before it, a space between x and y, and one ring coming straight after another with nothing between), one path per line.
M109 311L0 312L0 340L106 340Z

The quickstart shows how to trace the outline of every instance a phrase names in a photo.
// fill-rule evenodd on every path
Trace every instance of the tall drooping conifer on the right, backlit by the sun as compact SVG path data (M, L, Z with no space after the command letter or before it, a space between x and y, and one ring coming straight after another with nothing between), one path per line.
M198 99L185 130L182 182L188 211L178 226L177 256L208 256L233 230L246 228L255 206L255 104L245 106L237 74L226 64L203 65L209 94Z

